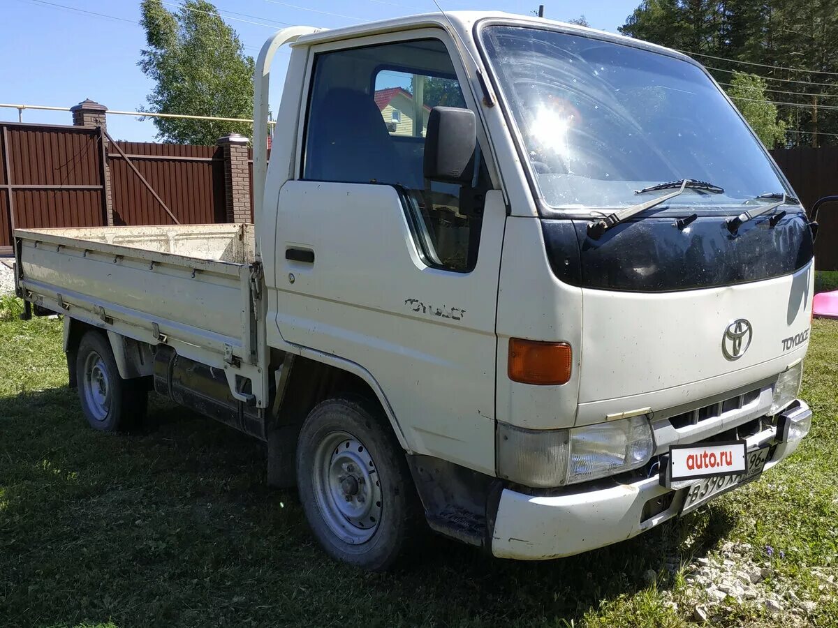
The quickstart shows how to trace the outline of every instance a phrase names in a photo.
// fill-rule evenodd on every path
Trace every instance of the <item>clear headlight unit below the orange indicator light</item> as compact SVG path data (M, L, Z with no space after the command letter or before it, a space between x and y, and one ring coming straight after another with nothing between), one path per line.
M644 466L654 451L645 416L572 430L498 423L498 475L534 488L595 480Z

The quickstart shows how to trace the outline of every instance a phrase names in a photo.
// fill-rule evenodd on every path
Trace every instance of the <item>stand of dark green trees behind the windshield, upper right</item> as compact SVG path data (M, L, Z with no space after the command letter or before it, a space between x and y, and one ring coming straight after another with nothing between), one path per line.
M789 144L838 144L838 0L643 0L620 32L693 54L726 89L762 76Z

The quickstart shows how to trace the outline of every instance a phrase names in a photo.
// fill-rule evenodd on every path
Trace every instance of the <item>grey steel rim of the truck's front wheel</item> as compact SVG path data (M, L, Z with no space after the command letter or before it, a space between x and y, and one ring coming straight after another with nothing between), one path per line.
M359 438L329 432L314 455L314 497L328 528L344 543L360 545L375 535L383 507L375 461Z

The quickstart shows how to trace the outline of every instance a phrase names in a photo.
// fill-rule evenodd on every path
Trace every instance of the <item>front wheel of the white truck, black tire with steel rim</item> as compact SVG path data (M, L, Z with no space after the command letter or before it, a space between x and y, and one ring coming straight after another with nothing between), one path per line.
M404 451L365 399L328 399L308 414L297 441L297 485L323 549L371 571L396 562L422 516Z

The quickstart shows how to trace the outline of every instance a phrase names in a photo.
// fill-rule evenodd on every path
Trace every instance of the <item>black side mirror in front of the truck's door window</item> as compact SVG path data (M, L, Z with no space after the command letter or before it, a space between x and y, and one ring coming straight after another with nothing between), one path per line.
M427 119L425 178L442 183L471 183L477 121L470 109L434 107Z

